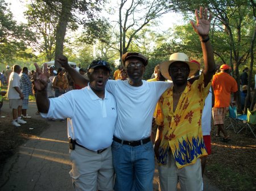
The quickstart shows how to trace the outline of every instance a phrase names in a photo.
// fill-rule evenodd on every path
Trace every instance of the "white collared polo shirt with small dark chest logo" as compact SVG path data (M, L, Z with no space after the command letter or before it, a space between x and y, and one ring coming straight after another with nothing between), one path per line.
M108 91L105 91L105 98L102 100L88 85L49 101L48 113L41 115L68 118L68 137L93 151L112 144L117 108L114 96Z

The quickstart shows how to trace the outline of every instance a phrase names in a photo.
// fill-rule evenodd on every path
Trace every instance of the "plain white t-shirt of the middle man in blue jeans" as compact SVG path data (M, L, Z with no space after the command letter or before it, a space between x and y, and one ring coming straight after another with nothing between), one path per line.
M138 141L151 135L152 117L156 103L172 83L147 82L139 87L131 86L128 80L108 80L106 90L117 101L115 137L125 141Z

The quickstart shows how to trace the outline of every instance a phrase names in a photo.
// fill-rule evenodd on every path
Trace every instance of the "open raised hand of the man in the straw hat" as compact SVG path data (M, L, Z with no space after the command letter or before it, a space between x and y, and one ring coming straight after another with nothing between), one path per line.
M203 7L200 7L200 16L198 14L198 11L196 9L195 11L196 15L196 24L191 20L192 27L194 31L199 36L207 36L209 35L210 31L210 20L212 20L212 14L210 13L208 18L208 11L207 8L203 10Z

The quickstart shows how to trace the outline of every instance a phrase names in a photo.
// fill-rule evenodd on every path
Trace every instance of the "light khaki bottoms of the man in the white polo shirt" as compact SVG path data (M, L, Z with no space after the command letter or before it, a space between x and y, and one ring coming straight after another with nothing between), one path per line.
M69 150L73 187L76 191L113 190L114 168L111 147L104 152L89 151L80 146Z

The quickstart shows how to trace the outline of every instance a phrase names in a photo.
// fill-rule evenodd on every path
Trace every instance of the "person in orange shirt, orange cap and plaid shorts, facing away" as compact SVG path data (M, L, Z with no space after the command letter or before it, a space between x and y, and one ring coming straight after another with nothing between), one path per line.
M220 137L220 131L224 134L222 141L229 141L228 132L224 128L224 118L230 105L230 96L237 92L237 82L229 75L229 65L221 65L220 73L215 74L212 79L212 87L215 95L214 107L212 110L213 123L218 127L216 137ZM234 94L233 104L236 104Z

